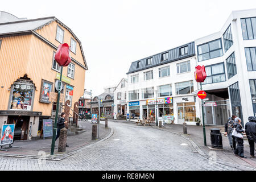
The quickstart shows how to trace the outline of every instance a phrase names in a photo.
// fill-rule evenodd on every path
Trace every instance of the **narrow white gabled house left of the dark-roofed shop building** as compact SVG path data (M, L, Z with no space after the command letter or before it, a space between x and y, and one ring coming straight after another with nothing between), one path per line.
M114 114L126 116L127 79L122 78L114 90Z

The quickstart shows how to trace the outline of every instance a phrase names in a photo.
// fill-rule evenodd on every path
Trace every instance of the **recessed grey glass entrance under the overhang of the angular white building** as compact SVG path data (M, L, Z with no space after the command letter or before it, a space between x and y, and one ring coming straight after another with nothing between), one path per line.
M225 125L230 116L229 100L209 101L207 104L204 106L205 125Z

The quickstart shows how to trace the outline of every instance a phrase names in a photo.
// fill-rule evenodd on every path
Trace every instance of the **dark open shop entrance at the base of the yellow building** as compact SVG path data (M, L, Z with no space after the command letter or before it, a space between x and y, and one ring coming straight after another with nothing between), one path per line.
M9 115L7 124L15 124L14 140L26 140L28 134L29 116Z

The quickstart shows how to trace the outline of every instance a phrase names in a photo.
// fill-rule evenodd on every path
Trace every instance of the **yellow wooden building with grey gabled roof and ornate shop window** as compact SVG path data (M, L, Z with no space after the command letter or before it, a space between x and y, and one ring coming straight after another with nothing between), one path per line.
M50 96L57 92L55 82L60 78L60 67L53 59L57 47L68 43L72 60L63 67L62 105L70 100L73 108L79 101L88 66L80 40L59 19L28 20L2 14L0 128L4 123L15 123L15 139L27 140L38 135L43 119L55 117L56 102Z

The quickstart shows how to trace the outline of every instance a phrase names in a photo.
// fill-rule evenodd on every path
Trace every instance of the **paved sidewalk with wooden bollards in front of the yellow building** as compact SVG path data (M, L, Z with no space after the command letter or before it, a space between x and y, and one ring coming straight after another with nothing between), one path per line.
M66 152L57 152L59 145L59 139L55 142L55 152L51 156L51 143L52 137L46 139L26 140L26 141L14 141L13 146L21 148L7 148L9 151L0 151L0 156L13 156L22 158L41 158L42 155L46 155L46 158L52 160L61 160L67 156L72 155L75 151L89 144L98 142L101 139L107 137L111 129L105 128L105 122L101 121L100 125L100 137L96 140L92 140L92 123L89 121L79 121L79 126L82 127L85 132L78 135L68 135Z

